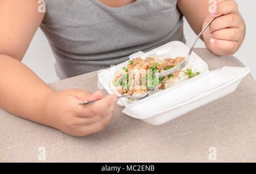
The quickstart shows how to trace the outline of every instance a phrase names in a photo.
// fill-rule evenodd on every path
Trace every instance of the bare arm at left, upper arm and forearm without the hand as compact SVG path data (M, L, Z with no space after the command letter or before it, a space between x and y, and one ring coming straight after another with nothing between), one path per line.
M0 1L0 107L34 121L53 93L20 62L44 17L38 6L35 0Z

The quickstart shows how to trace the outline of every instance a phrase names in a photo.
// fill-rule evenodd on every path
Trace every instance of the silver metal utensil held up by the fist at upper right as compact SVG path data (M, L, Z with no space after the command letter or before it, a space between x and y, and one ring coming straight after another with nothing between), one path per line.
M190 60L191 53L193 51L193 48L195 47L197 40L200 38L200 36L203 34L203 32L206 30L206 28L213 22L214 19L215 18L212 18L212 20L210 20L210 22L207 24L207 26L205 26L204 29L200 32L200 34L197 36L196 41L194 42L194 44L192 45L192 47L190 48L190 50L188 52L187 58L185 60L183 60L183 62L181 62L179 65L177 65L174 68L168 69L167 71L157 73L156 76L158 76L159 78L164 77L164 76L175 73L175 72L179 71L180 69L184 68L188 64L188 61Z

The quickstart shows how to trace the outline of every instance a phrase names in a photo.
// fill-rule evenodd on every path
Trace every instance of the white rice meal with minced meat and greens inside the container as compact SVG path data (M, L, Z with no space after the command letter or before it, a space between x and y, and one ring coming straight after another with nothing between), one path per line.
M114 85L117 92L123 96L142 96L144 93L148 92L156 82L159 82L159 90L164 90L200 74L197 60L191 58L187 66L180 71L175 72L170 76L159 78L158 81L152 81L152 85L151 81L148 82L151 78L150 75L153 79L155 73L173 68L180 64L184 59L184 57L171 59L168 55L156 54L152 54L146 59L137 57L130 61L126 67L123 67L123 69L115 73ZM151 73L150 70L154 70L154 72Z

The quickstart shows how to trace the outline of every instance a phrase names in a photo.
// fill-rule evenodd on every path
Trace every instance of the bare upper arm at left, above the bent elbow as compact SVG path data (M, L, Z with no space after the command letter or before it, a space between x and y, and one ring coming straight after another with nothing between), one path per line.
M21 61L44 18L37 0L0 1L0 53Z

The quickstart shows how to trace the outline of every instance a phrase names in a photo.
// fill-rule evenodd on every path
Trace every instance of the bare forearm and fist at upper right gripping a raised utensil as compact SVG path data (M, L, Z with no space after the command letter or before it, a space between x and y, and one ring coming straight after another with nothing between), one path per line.
M178 0L177 6L196 34L216 17L201 39L204 40L205 46L217 55L231 55L240 48L245 38L245 22L235 1L216 0L216 11L209 8L209 2L214 1Z

